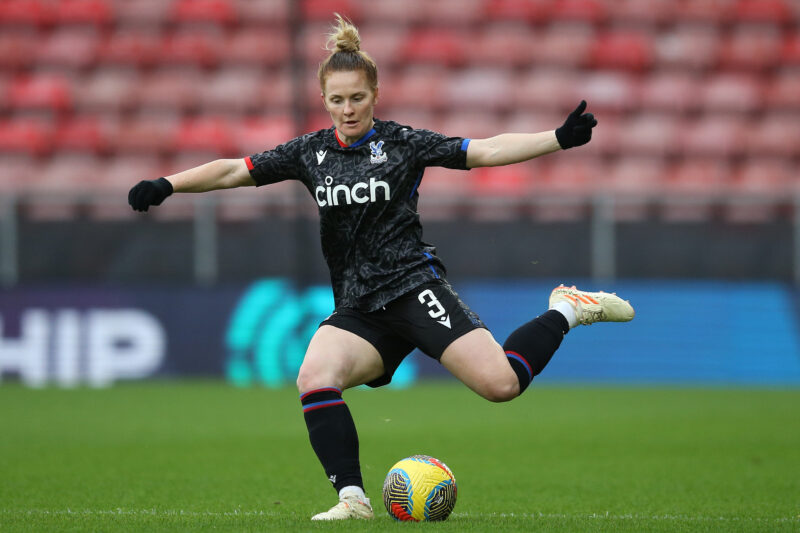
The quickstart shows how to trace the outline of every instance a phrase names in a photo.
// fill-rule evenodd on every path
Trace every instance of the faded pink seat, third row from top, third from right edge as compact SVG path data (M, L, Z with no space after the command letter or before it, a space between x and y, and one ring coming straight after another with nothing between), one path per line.
M648 111L683 113L700 106L701 78L683 70L648 74L639 86L640 106Z

